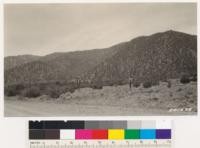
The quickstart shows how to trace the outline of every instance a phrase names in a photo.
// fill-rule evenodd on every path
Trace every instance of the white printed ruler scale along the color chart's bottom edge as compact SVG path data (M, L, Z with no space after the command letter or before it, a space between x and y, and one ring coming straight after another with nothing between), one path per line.
M30 148L171 148L171 140L31 141Z

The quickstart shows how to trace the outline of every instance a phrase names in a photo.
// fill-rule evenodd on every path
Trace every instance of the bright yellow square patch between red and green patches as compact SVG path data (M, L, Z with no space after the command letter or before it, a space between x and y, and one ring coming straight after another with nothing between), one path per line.
M108 139L112 139L112 140L124 139L124 130L123 129L109 129Z

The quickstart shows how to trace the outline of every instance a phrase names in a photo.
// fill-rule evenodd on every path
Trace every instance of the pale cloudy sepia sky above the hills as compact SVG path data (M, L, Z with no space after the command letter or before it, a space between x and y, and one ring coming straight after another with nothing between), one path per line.
M197 34L196 4L4 6L5 56L100 49L167 30Z

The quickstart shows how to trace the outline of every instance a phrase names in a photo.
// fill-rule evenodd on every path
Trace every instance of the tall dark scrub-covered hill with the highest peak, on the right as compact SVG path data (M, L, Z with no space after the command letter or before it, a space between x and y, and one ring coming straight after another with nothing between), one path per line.
M197 38L167 31L139 37L123 44L111 58L86 76L93 81L160 81L197 73Z

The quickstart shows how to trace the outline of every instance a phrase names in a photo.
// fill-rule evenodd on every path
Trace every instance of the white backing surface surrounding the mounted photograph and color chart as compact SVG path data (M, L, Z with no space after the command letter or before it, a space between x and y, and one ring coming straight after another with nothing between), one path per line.
M22 0L7 0L4 2L23 2ZM34 2L63 2L64 0L34 0ZM83 2L84 0L74 0L73 2ZM106 2L108 0L101 0ZM126 0L130 2L130 0ZM138 2L135 0L133 2ZM140 0L139 2L152 2L150 0ZM153 2L164 2L165 0L154 0ZM178 0L168 0L167 2L177 2ZM179 0L179 2L196 2L195 0ZM31 0L24 0L31 2ZM32 0L33 2L33 0ZM66 2L66 1L65 1ZM88 2L94 2L90 0ZM96 1L95 1L96 2ZM110 0L110 2L120 2L120 0ZM132 2L132 1L131 1ZM173 142L174 148L200 148L200 118L199 116L178 116L178 117L63 117L63 118L4 118L3 110L3 2L0 5L0 148L26 148L28 140L28 120L72 120L72 119L97 119L97 120L141 120L141 119L173 119ZM198 4L199 8L199 4ZM198 10L199 11L199 10ZM198 17L199 18L199 17ZM198 20L199 22L199 20ZM199 24L199 23L198 23ZM199 25L198 25L199 30ZM199 33L198 33L199 35ZM199 41L199 37L198 37ZM199 45L198 45L199 49ZM199 57L199 52L198 52ZM198 60L199 61L199 60ZM198 63L199 69L199 63ZM199 73L198 73L199 78ZM198 87L199 92L199 87ZM198 98L199 99L199 98ZM198 103L199 104L199 103Z

